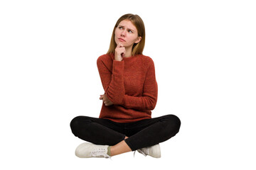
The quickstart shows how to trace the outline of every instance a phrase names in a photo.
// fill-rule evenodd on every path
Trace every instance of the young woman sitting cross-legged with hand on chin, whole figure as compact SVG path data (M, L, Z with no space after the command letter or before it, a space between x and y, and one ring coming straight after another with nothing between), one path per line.
M144 44L142 18L133 14L119 18L110 49L97 59L105 90L100 95L103 101L100 118L78 116L70 123L76 137L90 142L79 145L76 156L109 158L137 150L159 158L159 143L178 132L181 121L176 115L151 118L157 84L153 60L142 55Z

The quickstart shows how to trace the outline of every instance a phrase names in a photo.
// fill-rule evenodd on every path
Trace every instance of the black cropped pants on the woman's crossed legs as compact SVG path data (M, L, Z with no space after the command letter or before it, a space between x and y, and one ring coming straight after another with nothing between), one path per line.
M70 127L73 134L96 145L116 145L124 140L132 151L156 145L174 137L181 126L176 115L139 120L134 123L116 123L112 120L78 116Z

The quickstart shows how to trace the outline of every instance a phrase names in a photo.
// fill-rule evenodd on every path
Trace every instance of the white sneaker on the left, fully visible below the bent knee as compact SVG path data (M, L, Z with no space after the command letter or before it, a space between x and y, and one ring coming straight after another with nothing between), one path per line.
M108 145L95 145L91 143L82 143L75 149L75 155L80 158L90 158L90 157L102 157L110 158L107 154Z

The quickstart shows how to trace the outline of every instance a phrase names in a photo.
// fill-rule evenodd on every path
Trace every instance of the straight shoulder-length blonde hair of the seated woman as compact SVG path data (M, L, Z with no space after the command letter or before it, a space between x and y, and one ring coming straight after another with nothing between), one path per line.
M144 45L145 45L145 26L144 22L142 21L142 18L140 18L138 15L134 15L132 13L127 13L124 16L121 16L118 20L117 23L114 26L113 32L112 32L112 37L110 40L110 48L107 51L107 54L114 53L115 48L117 47L117 43L114 41L114 31L121 23L123 20L129 20L133 23L133 25L137 28L138 31L138 36L142 37L142 40L140 40L138 43L134 43L132 47L132 55L142 55L142 52L144 50Z

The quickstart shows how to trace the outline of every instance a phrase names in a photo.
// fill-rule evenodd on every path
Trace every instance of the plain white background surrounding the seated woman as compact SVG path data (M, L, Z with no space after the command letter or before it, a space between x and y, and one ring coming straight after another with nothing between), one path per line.
M255 169L255 8L246 0L1 1L1 169ZM125 13L146 26L144 55L159 84L152 117L178 115L181 130L161 143L161 159L79 159L70 120L99 115L96 60Z

